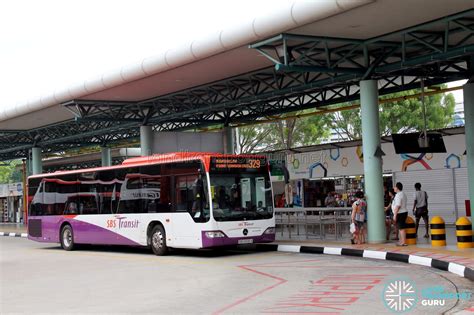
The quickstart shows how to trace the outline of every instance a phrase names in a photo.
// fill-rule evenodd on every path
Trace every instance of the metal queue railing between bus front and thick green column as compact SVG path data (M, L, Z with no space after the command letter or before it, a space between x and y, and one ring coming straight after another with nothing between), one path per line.
M347 238L351 210L350 207L276 208L277 238Z

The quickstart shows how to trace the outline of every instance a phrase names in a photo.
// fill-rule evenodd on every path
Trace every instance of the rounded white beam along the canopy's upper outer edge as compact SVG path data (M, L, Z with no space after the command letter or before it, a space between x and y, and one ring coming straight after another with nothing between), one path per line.
M6 105L0 122L73 99L104 91L160 72L196 62L257 40L336 15L375 0L293 1L273 12L253 17L232 28L206 34L191 43L173 47L101 77L42 95L26 102Z

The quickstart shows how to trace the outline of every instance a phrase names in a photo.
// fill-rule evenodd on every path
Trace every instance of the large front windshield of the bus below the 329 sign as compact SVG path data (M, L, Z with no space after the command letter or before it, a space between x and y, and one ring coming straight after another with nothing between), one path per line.
M222 158L215 162L224 162ZM248 159L220 164L211 161L211 195L216 221L263 220L273 217L272 192L265 159L254 167ZM263 163L263 164L262 164Z

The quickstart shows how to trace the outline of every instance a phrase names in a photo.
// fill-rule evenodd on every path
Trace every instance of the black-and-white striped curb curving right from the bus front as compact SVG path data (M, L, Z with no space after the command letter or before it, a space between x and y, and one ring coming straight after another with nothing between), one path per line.
M381 252L367 249L353 249L342 247L320 247L320 246L301 246L301 245L278 245L278 244L256 244L256 248L263 251L277 251L277 252L291 252L302 254L324 254L324 255L339 255L352 256L382 260L392 260L404 262L407 264L421 265L430 268L436 268L444 271L449 271L463 278L474 281L474 270L452 262L447 262L439 259L400 254L393 252Z

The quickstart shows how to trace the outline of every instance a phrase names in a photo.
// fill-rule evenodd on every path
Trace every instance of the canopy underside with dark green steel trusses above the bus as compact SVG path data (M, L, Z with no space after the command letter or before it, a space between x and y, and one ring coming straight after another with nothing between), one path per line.
M273 28L284 32L250 45L30 114L2 116L0 160L26 157L33 146L59 152L135 139L141 125L156 131L228 126L356 100L364 79L377 79L382 95L418 88L421 79L434 85L472 77L474 9L467 2L391 4L360 1L359 8L328 12L324 20L311 16ZM387 14L393 20L382 18Z

